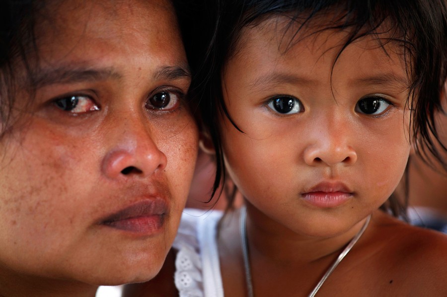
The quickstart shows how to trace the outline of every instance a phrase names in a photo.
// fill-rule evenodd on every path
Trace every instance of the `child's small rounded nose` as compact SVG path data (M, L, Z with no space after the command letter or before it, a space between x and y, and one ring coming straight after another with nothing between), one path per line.
M322 125L315 125L304 151L305 163L309 166L354 165L357 162L354 134L344 119L326 120Z

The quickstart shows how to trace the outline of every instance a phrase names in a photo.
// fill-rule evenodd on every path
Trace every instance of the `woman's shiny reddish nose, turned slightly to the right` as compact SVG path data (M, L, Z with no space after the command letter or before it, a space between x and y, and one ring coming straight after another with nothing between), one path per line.
M164 170L166 155L158 148L155 133L150 133L147 125L142 120L128 118L107 135L110 148L102 162L107 178L147 178Z

